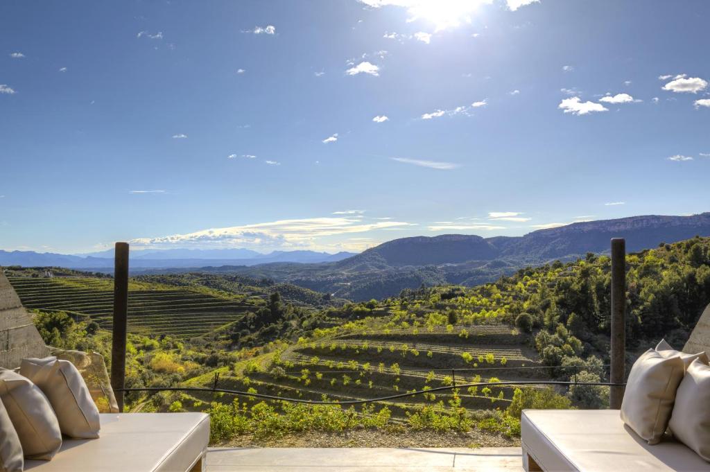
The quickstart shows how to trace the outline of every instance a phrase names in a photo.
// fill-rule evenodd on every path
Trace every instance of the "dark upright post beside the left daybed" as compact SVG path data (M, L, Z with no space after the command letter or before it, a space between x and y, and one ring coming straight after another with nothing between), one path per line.
M114 329L111 344L111 388L116 395L119 412L124 411L126 378L126 330L129 307L129 244L116 243L114 262Z

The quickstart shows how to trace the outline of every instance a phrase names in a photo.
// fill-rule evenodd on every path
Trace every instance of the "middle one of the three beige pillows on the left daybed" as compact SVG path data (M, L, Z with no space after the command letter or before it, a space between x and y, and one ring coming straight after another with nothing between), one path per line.
M2 400L26 459L49 461L62 446L62 432L52 406L28 378L0 368Z

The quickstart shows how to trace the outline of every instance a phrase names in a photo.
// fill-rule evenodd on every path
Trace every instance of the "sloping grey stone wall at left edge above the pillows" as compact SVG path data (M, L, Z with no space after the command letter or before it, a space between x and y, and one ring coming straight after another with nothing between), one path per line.
M44 357L49 350L0 269L0 367L15 368L26 357Z

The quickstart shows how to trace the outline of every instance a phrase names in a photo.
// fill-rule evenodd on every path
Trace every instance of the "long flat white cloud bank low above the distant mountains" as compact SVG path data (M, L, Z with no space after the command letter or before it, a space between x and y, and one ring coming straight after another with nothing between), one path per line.
M321 238L341 234L366 233L397 229L413 224L403 221L368 221L347 216L285 219L267 223L211 228L187 234L130 241L140 247L251 247L251 248L324 248Z

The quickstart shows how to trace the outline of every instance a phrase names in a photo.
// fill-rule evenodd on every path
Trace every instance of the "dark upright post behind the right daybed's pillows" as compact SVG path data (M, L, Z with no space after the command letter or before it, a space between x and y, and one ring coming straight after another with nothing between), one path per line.
M611 239L611 368L609 381L623 383L626 361L626 241ZM609 407L621 408L623 386L609 388Z

